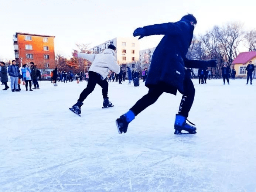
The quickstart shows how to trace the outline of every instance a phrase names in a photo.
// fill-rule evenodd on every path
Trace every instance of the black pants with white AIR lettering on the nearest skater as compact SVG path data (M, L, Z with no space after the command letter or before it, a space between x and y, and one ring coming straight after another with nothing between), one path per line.
M191 106L195 97L195 88L192 83L192 80L185 76L184 82L184 95L182 96L180 108L178 114L188 117L188 113L191 109ZM163 87L156 85L154 88L150 88L147 95L144 95L134 106L130 109L135 116L137 116L140 112L146 109L148 106L157 101L158 97L163 93Z

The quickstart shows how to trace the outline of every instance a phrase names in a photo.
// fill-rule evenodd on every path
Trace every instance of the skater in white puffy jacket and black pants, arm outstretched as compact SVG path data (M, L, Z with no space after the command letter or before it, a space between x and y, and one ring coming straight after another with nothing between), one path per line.
M114 71L115 73L120 72L115 51L116 47L114 45L109 45L107 49L105 49L100 54L77 53L75 51L73 56L87 59L88 61L92 62L92 65L89 69L89 79L87 87L80 94L77 103L69 108L72 112L78 115L81 114L81 106L83 105L83 101L94 90L96 84L98 84L102 88L103 107L112 106L112 103L109 102L109 97L107 97L107 91L109 86L107 82L107 75L109 74L110 70Z

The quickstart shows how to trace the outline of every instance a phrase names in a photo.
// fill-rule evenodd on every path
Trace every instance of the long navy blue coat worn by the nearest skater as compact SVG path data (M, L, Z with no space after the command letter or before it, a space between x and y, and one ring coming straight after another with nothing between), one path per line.
M174 95L177 90L183 93L184 67L200 68L207 64L206 61L186 58L194 26L190 21L181 19L176 23L155 24L143 28L145 36L164 35L153 53L145 85L148 88L161 85L164 92Z

